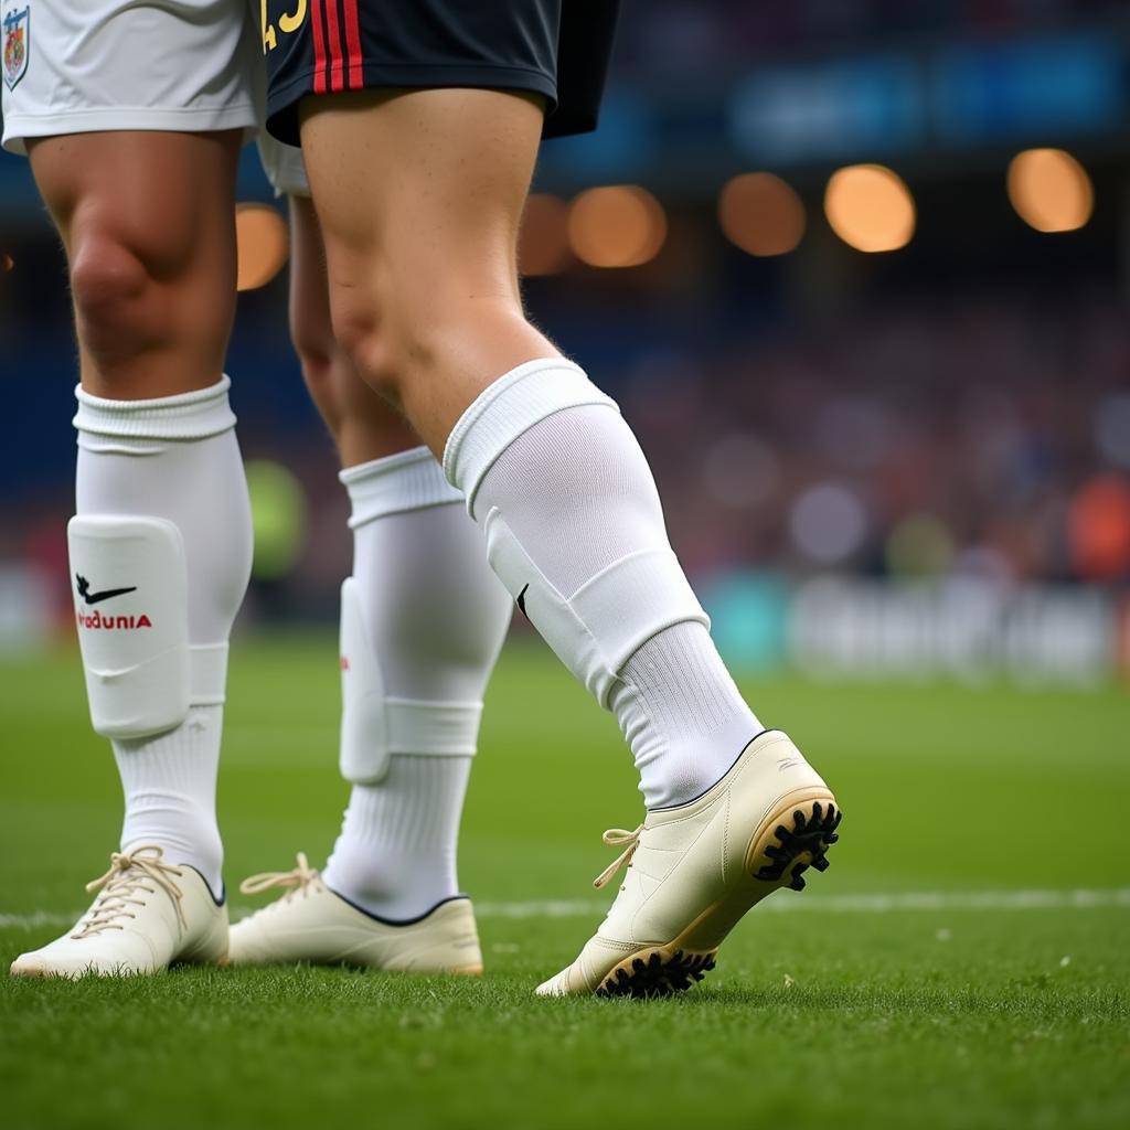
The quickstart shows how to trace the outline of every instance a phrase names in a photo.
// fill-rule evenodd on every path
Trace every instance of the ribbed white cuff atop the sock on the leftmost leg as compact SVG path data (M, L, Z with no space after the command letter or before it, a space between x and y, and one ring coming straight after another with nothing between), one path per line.
M80 433L123 440L207 440L235 427L231 386L224 376L210 388L154 400L107 400L78 386L71 423Z

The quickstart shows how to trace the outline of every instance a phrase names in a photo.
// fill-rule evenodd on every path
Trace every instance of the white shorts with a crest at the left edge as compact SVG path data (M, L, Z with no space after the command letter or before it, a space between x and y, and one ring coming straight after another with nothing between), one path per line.
M253 129L252 0L3 0L3 146L98 130Z

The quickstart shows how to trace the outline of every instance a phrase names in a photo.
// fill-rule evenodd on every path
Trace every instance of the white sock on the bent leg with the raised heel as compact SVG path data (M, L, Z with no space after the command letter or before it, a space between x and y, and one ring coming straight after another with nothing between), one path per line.
M714 784L763 727L710 638L616 405L571 362L530 362L467 409L444 469L503 583L616 713L646 806Z

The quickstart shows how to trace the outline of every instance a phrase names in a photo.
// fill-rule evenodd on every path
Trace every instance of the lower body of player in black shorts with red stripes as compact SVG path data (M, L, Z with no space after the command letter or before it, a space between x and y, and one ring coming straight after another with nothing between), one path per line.
M620 893L540 991L684 988L750 906L826 867L840 815L725 670L616 405L522 310L538 145L591 128L615 5L288 11L267 6L269 124L301 137L336 340L442 460L492 567L640 771L644 822L606 834L626 845Z

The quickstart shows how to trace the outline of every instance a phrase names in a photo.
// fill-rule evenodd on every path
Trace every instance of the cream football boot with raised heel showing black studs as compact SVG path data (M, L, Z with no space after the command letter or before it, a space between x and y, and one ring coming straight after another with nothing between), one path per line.
M542 997L667 996L714 967L738 920L780 887L800 890L809 867L827 869L840 810L828 786L777 730L755 738L697 800L647 814L605 843L627 863L608 916L572 965L538 986Z

